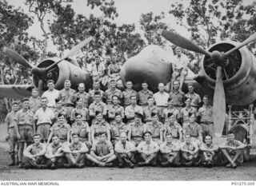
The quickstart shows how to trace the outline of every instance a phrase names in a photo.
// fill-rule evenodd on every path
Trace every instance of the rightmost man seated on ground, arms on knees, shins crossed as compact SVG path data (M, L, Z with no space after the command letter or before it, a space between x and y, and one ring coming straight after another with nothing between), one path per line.
M234 140L234 132L229 131L227 133L227 139L223 144L220 144L218 148L222 150L222 154L225 157L225 163L227 168L237 168L237 165L241 165L243 162L243 150L246 144L243 144L239 140Z

